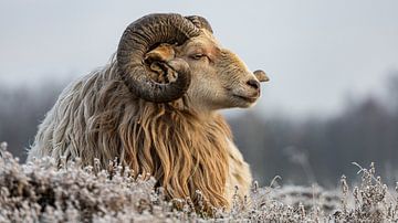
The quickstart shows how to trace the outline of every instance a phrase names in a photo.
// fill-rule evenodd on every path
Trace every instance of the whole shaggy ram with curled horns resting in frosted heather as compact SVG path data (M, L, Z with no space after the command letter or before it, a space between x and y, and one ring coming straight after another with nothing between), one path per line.
M39 126L28 160L117 157L170 199L201 191L213 206L249 192L251 173L218 110L250 107L264 72L223 49L201 17L149 14L125 30L109 64L69 85Z

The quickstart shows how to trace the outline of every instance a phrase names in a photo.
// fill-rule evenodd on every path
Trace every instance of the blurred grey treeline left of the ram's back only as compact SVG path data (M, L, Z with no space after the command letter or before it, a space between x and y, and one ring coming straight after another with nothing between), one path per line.
M7 141L21 161L33 144L38 125L65 86L66 83L54 79L34 86L10 86L0 82L0 141Z

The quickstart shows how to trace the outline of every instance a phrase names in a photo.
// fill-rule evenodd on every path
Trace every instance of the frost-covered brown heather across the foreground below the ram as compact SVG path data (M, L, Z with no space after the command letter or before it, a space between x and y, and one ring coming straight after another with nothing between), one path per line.
M358 166L362 181L353 189L345 177L336 191L274 187L276 179L271 187L254 183L247 204L235 204L228 212L214 209L209 216L189 200L166 201L153 178L133 178L114 162L106 170L80 168L78 160L61 169L49 159L21 166L6 147L2 144L0 150L0 222L398 221L398 184L388 189L373 164ZM176 203L182 209L176 210Z

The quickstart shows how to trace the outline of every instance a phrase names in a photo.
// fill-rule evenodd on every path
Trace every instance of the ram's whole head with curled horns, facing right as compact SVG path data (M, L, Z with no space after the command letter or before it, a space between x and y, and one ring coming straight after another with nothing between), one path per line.
M249 107L260 96L264 72L250 72L223 49L201 17L149 14L125 30L118 72L129 91L148 102L187 95L198 108Z

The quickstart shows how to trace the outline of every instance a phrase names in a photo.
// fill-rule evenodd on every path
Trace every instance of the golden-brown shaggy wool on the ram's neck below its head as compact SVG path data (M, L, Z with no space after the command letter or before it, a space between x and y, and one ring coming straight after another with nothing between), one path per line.
M221 115L140 103L138 113L119 125L128 128L119 132L133 134L121 139L135 172L151 173L170 198L193 200L200 190L212 205L227 205L223 195L231 134Z

